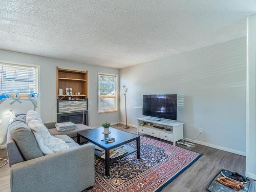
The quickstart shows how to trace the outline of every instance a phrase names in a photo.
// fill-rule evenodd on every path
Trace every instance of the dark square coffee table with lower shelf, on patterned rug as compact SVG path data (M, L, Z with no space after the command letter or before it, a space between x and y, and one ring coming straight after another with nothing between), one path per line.
M102 134L102 132L104 131L103 127L98 127L96 129L92 129L92 130L84 130L84 131L77 133L77 143L78 144L81 144L80 137L82 137L82 138L92 142L93 144L101 147L103 150L105 150L104 161L105 161L105 175L106 176L110 175L110 163L112 163L118 159L121 159L121 158L125 157L126 155L129 155L134 152L137 152L137 158L140 159L140 136L132 134L132 133L120 131L120 130L114 129L112 127L110 127L109 130L111 133L108 135ZM101 139L103 139L103 138L113 138L113 137L116 139L116 141L113 143L105 143L105 141L101 141ZM128 145L124 145L126 143L130 143L135 140L137 143L137 148L133 148ZM119 157L110 159L110 150L112 150L115 147L122 146L122 145L124 145L123 149L127 150L128 152ZM101 157L103 155L103 153L98 150L95 150L95 155Z

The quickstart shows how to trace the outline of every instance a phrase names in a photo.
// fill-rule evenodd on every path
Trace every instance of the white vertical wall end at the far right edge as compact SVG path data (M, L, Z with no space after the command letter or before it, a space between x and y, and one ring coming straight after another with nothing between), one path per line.
M246 176L256 180L256 15L247 17Z

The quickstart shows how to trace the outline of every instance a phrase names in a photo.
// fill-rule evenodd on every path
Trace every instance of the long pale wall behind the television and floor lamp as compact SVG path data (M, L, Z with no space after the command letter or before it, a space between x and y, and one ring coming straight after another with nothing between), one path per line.
M246 38L121 69L120 90L124 85L129 124L142 116L143 94L178 94L184 137L202 128L198 143L245 155Z

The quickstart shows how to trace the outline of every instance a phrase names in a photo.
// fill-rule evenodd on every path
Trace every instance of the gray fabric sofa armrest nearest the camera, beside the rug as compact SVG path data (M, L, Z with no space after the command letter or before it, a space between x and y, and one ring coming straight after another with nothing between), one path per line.
M82 191L94 185L94 146L69 150L14 164L11 191Z

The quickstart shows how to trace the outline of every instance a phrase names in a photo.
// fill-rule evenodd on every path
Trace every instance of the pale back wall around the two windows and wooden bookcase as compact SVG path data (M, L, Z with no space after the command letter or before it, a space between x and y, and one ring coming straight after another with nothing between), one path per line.
M89 118L92 126L98 126L105 120L117 122L119 112L98 113L98 72L117 74L119 70L113 68L86 65L76 62L69 62L60 59L35 56L25 53L17 53L7 50L0 50L0 61L27 63L40 66L40 111L44 122L56 120L56 66L60 68L88 71L89 74ZM118 79L119 81L119 79ZM118 91L118 90L117 90ZM3 105L2 105L3 106ZM0 104L1 107L1 104ZM22 106L20 106L22 108ZM0 108L0 111L3 110Z

